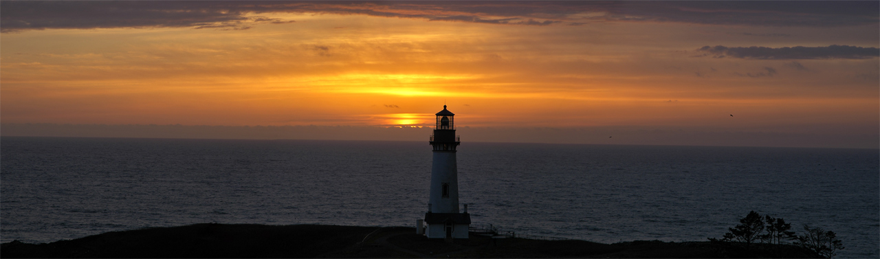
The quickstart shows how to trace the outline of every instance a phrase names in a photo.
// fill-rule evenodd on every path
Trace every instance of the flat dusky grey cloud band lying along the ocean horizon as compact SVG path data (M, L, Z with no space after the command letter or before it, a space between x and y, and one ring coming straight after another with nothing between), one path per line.
M835 126L836 129L838 126ZM877 126L831 133L747 132L681 129L659 126L458 127L465 142L523 142L607 145L674 145L733 147L877 148ZM432 128L380 126L180 126L180 125L0 125L2 136L241 139L241 140L392 140L424 141ZM873 132L873 133L871 133ZM613 138L608 138L613 136ZM465 144L463 144L464 146ZM465 148L465 147L462 147Z

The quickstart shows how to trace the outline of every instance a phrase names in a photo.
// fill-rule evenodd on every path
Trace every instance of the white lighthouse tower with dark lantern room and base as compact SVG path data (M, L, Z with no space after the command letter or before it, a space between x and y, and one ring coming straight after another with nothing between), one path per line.
M446 110L436 113L436 127L430 144L434 147L431 164L431 186L428 212L425 213L425 235L428 238L467 238L471 215L458 212L458 168L455 147L461 142L455 135L455 114Z

